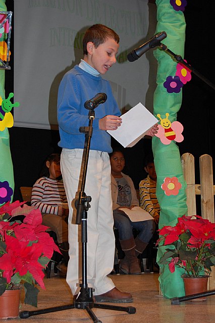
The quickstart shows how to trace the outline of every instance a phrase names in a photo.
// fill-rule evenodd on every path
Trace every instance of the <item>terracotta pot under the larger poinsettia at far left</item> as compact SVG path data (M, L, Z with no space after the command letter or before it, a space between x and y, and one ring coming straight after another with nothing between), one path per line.
M21 289L7 290L0 296L0 319L19 316L20 291Z

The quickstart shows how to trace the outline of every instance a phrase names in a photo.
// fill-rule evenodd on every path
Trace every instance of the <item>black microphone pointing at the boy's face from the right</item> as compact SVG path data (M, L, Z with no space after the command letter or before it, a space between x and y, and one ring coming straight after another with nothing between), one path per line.
M160 44L160 41L167 37L167 34L165 31L158 32L155 34L151 39L146 41L143 45L140 47L132 50L128 55L127 59L129 62L134 62L140 58L147 50L150 48L153 48L155 46L158 46Z

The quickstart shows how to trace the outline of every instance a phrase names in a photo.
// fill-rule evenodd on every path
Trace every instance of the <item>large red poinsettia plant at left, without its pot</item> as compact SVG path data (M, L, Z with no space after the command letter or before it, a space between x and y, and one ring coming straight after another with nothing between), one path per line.
M0 295L24 285L25 303L37 306L36 284L45 289L44 268L53 250L60 251L45 232L48 227L41 224L40 210L24 203L7 202L0 207ZM20 215L24 220L16 218Z

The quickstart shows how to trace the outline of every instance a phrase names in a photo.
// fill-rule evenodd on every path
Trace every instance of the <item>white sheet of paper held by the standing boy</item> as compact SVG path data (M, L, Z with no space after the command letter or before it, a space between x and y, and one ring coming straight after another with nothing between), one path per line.
M140 102L121 118L121 126L107 132L124 148L133 147L157 123L157 119Z

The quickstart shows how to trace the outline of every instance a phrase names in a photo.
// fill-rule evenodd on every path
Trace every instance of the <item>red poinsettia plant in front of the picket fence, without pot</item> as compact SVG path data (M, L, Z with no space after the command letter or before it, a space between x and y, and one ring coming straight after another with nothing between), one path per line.
M185 270L183 277L209 276L215 265L215 224L199 216L178 218L175 227L159 229L157 244L166 248L159 259L169 264L171 273L175 266Z

